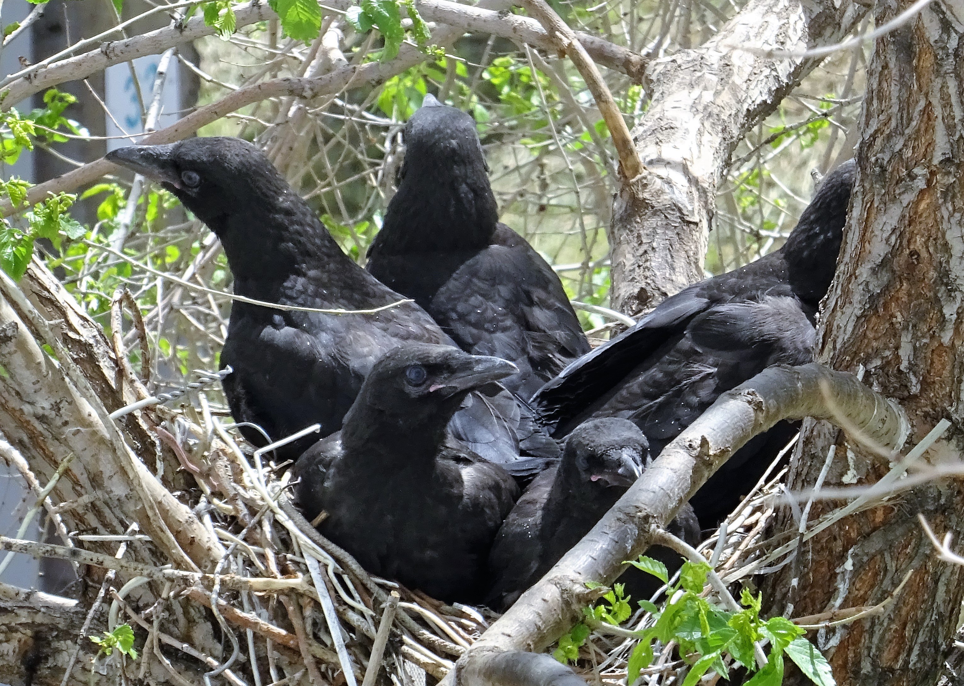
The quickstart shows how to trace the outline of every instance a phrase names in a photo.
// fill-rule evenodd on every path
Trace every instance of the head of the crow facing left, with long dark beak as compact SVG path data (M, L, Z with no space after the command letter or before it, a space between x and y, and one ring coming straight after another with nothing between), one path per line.
M265 154L239 138L131 145L107 159L157 181L215 231L221 218L249 212L260 200L274 204L296 196Z

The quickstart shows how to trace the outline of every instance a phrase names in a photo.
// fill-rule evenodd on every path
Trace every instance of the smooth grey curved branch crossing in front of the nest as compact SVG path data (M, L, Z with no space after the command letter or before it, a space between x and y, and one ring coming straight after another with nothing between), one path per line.
M899 448L908 430L903 410L852 374L817 363L765 369L720 396L667 445L646 477L466 651L454 678L485 673L501 652L551 645L595 597L585 582L616 579L623 561L644 552L656 530L754 435L784 419L808 416L856 429L889 450Z

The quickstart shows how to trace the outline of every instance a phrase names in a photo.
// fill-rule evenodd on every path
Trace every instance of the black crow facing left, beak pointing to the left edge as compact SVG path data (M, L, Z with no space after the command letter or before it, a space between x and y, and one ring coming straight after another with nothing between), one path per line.
M308 203L250 143L194 138L123 147L107 159L159 181L214 231L228 257L235 295L348 310L402 300L341 251ZM375 360L407 341L452 344L415 303L374 314L337 314L235 301L221 353L221 366L233 369L224 382L231 414L235 421L257 424L271 440L314 423L321 424L321 435L332 434ZM493 385L467 403L456 416L455 434L487 460L516 459L519 439L535 431L531 422L520 429L516 399ZM254 445L265 444L254 429L241 431ZM316 438L291 443L278 456L296 458ZM549 446L549 457L557 450L551 440L542 444Z

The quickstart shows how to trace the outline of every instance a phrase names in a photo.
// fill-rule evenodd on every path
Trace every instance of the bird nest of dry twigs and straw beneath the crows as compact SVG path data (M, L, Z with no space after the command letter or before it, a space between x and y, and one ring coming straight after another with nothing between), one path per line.
M309 682L351 686L433 683L498 618L488 608L446 604L368 574L315 531L317 520L308 522L295 509L287 495L290 472L262 464L257 453L242 452L229 438L228 443L244 472L238 481L247 510L254 513L247 521L216 508L204 514L227 550L215 571L209 606L218 608L216 617L231 639L215 670L229 682L248 684L245 674L257 673L258 684L298 683L305 676ZM753 573L765 558L766 525L784 473L776 465L771 467L776 473L764 477L769 481L761 480L700 546L728 582ZM125 609L148 628L149 620ZM589 683L625 684L635 643L629 631L652 621L638 610L622 626L593 631L578 648L574 670ZM246 645L229 624L245 630ZM672 658L673 646L663 646L643 672L649 683L678 682L687 665ZM265 665L270 674L263 673Z

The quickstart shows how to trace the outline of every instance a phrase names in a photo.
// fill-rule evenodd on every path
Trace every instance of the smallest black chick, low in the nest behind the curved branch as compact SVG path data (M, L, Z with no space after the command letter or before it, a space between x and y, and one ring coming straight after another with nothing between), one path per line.
M646 436L626 419L592 419L576 428L566 439L562 461L533 480L498 530L489 556L495 583L486 604L504 611L542 578L639 478L649 454ZM688 504L667 530L692 544L699 541L699 524ZM659 545L646 555L671 573L683 564L679 555ZM649 598L660 586L655 576L635 567L620 582L637 600Z

